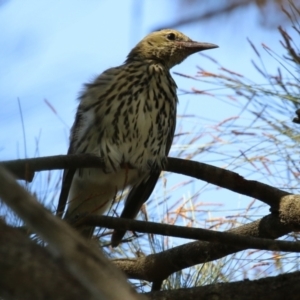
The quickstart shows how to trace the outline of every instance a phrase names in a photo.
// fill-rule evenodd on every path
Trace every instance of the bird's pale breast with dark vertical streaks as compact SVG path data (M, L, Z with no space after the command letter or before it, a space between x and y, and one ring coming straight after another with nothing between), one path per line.
M82 135L91 141L86 150L105 159L107 172L123 163L141 171L161 168L176 121L176 85L169 74L156 72L154 67L126 71L123 76L115 75L102 94L85 95L98 98L86 113L86 121L93 125L82 126ZM98 130L91 133L89 128L95 127Z

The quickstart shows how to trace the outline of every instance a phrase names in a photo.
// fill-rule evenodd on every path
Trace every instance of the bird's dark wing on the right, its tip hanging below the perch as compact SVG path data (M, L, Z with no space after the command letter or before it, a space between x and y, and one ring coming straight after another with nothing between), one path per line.
M173 116L174 121L172 126L170 127L170 131L168 134L167 145L166 145L166 156L168 155L175 133L176 127L176 106L175 106L175 114ZM136 217L138 212L140 211L142 205L148 200L150 195L152 194L156 182L160 175L160 170L151 171L149 177L147 177L144 181L142 181L139 185L134 186L130 193L127 196L124 209L121 214L121 218L133 219ZM119 245L120 241L124 237L126 230L114 230L111 237L111 245L116 247Z

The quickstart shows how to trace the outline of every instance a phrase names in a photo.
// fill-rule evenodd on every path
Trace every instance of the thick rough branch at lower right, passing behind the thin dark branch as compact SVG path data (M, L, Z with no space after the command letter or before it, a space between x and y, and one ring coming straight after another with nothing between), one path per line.
M268 215L261 220L240 226L228 232L245 237L275 239L290 231L291 228L283 224L278 216ZM238 247L227 243L196 241L145 257L115 259L113 262L130 278L154 282L164 280L174 272L185 268L214 261L245 249L247 247Z

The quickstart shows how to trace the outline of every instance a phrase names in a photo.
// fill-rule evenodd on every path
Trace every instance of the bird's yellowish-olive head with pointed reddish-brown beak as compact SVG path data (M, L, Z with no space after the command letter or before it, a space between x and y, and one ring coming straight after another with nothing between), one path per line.
M131 50L126 62L152 60L171 69L193 53L217 47L214 44L195 42L177 30L163 29L142 39Z

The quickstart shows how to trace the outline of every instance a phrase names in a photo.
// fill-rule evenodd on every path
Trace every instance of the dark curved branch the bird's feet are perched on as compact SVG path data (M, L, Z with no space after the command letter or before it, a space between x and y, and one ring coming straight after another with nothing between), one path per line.
M37 171L77 168L101 168L103 159L92 155L58 155L41 158L4 161L1 164L19 179L28 179L28 174ZM165 171L191 176L233 192L253 197L269 204L272 211L278 211L280 200L289 193L260 183L246 180L235 172L200 162L179 158L168 158ZM29 178L29 179L32 179Z

